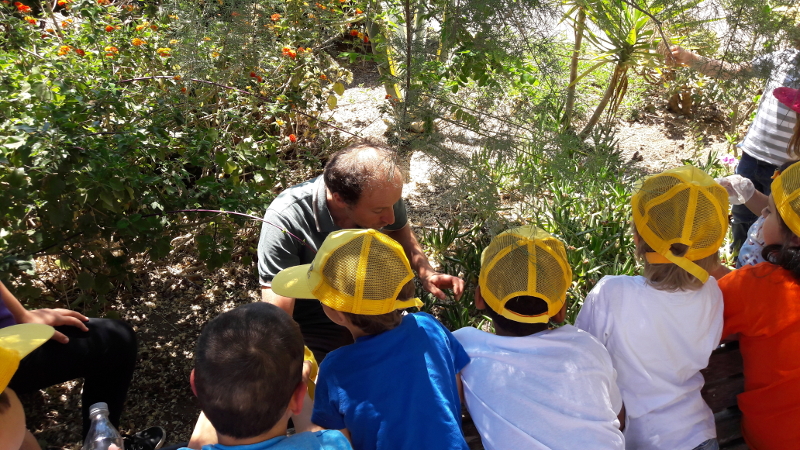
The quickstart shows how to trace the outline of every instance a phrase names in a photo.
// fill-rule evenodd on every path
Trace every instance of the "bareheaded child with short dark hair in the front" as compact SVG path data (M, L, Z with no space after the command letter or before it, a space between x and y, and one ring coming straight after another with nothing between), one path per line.
M303 408L302 368L300 328L275 305L240 306L209 322L190 378L219 441L203 449L350 449L338 431L286 436L289 417Z

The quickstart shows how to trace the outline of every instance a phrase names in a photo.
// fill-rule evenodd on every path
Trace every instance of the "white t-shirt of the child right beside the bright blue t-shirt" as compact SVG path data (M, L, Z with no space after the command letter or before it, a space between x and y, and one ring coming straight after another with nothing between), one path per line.
M464 396L487 450L624 448L616 373L591 335L571 325L525 337L453 334L470 357Z

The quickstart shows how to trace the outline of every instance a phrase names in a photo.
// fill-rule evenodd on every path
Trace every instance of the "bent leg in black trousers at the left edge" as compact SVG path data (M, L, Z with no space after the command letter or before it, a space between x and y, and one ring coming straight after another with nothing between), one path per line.
M89 431L89 407L106 402L109 419L119 426L125 396L136 366L136 334L125 322L90 319L89 331L62 326L56 329L69 343L48 341L20 361L9 386L19 393L83 378L83 437Z

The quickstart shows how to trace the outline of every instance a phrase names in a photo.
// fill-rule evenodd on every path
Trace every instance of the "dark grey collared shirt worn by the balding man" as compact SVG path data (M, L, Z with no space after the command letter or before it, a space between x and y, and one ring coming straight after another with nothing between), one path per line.
M399 230L408 223L402 198L394 204L394 216L395 222L384 227L385 231ZM310 264L328 234L340 229L328 210L322 176L283 191L267 208L264 220L269 223L262 223L258 240L258 276L262 286L270 286L275 275L287 267ZM330 322L317 301L297 302L294 317L301 326Z

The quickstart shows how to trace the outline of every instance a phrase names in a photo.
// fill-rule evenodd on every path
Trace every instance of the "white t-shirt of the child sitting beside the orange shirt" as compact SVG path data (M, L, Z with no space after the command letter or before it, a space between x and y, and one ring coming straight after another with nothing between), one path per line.
M629 449L693 449L716 437L700 396L722 337L722 291L710 277L697 291L659 291L644 277L606 276L575 325L603 343L625 404Z

